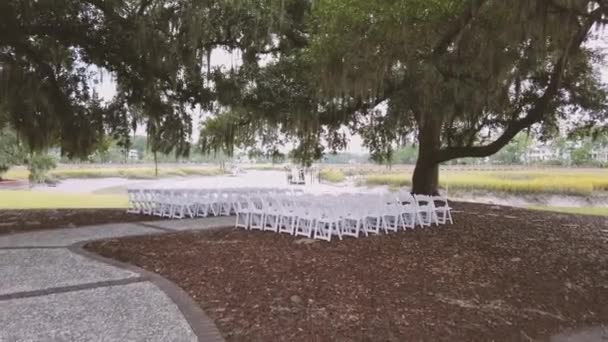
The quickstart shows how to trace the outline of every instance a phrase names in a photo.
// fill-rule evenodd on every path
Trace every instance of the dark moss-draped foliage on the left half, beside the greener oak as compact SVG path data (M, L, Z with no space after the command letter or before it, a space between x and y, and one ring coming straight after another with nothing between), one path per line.
M145 123L153 152L189 152L191 114L229 98L235 69L211 53L239 51L242 68L300 33L283 12L301 1L3 1L0 105L29 147L86 158L106 135L130 145ZM297 11L302 13L302 11ZM285 38L284 38L285 37ZM228 76L227 76L228 75ZM111 78L103 102L94 85Z

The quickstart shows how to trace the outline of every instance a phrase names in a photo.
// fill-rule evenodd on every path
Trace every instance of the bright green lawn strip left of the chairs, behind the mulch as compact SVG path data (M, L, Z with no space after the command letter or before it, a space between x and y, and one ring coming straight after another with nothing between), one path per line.
M126 195L1 190L0 209L126 208Z

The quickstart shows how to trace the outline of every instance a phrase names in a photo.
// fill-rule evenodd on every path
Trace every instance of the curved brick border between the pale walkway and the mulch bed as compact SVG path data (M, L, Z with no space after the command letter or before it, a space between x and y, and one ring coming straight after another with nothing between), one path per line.
M213 227L209 229L220 229L225 227ZM173 231L177 232L177 231ZM168 232L167 232L168 233ZM164 234L167 234L164 233ZM163 234L163 233L161 233ZM145 235L144 235L145 236ZM101 239L103 240L103 239ZM77 242L71 246L68 246L67 249L71 252L81 255L83 257L99 261L102 263L109 264L111 266L115 266L121 269L125 269L128 271L132 271L138 273L141 276L141 280L147 280L156 287L158 287L162 292L164 292L173 303L178 307L181 313L184 315L184 318L192 328L192 331L198 338L200 342L223 342L224 338L220 333L219 329L213 322L211 318L201 309L201 307L188 295L186 291L177 286L177 284L172 281L164 278L163 276L144 270L143 268L137 267L135 265L124 263L122 261L118 261L115 259L106 258L99 254L87 251L84 249L84 246L92 241L81 241Z

